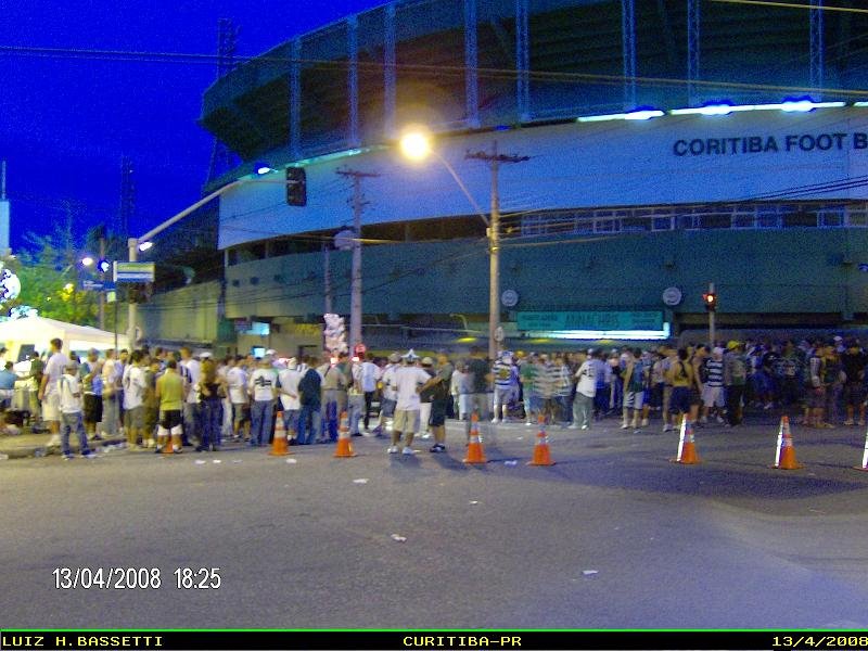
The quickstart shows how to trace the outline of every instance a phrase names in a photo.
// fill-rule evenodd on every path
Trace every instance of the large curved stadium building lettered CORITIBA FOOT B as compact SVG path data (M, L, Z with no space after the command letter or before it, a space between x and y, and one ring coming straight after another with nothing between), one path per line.
M246 62L201 118L220 316L316 346L359 209L365 341L485 345L496 144L509 347L682 335L710 282L723 329L865 324L868 15L804 4L399 1Z

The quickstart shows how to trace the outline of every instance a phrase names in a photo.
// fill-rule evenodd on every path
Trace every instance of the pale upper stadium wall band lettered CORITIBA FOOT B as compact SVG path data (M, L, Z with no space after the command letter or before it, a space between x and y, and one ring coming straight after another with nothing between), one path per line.
M867 199L868 187L816 188L868 176L868 110L825 108L728 116L665 116L534 127L442 139L441 155L475 204L488 210L490 174L467 151L529 156L500 174L501 210ZM311 163L307 205L285 203L282 173L243 182L220 197L219 247L339 228L353 218L341 167L376 173L363 180L363 225L473 215L476 209L435 157L410 164L397 151Z

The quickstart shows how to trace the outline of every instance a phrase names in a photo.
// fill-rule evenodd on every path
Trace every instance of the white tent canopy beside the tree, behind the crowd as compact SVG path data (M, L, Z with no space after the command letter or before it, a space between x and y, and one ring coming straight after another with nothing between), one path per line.
M22 348L24 352L48 350L49 342L55 337L63 341L63 350L67 354L82 355L89 348L105 350L115 347L114 332L89 326L64 323L44 317L26 317L0 323L0 345L9 349L7 359L11 361L18 361ZM126 334L117 335L117 347L128 347Z

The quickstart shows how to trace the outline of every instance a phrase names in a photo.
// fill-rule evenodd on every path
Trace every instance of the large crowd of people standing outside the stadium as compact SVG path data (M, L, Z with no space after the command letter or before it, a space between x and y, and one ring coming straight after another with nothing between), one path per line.
M2 350L0 350L2 355ZM126 439L133 450L184 447L218 451L226 441L251 447L271 442L278 416L290 445L333 443L340 418L350 435L390 437L390 454L413 455L413 438L433 437L431 452L446 451L446 421L471 414L497 424L541 419L574 430L620 417L622 429L641 431L660 419L663 431L684 419L697 426L739 426L745 407L801 413L814 427L866 424L868 354L857 340L730 341L714 346L598 348L572 353L502 352L495 360L478 348L452 361L413 350L387 357L261 358L180 350L91 349L71 358L52 340L31 372L36 410L55 435L64 458L69 437L92 458L89 442ZM17 375L0 370L0 400L9 407ZM795 416L795 413L794 413Z

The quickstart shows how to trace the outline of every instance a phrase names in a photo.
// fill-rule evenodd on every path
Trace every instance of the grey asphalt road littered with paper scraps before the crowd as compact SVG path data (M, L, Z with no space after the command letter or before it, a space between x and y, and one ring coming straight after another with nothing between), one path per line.
M868 627L864 432L794 427L799 471L767 467L773 418L700 431L693 467L615 421L550 430L558 463L527 467L534 433L500 426L484 467L457 426L445 456L1 462L0 627ZM162 586L58 589L59 567ZM220 587L178 589L179 567Z

